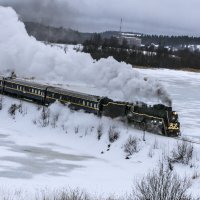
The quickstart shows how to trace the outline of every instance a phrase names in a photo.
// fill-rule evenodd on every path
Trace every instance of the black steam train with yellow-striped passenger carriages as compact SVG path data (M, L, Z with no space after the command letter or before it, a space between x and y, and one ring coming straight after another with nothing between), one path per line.
M172 137L180 135L178 113L173 111L172 107L163 104L147 105L143 102L114 101L108 97L3 76L0 76L0 92L3 95L44 106L59 101L73 110L84 110L98 116L120 118L143 131Z

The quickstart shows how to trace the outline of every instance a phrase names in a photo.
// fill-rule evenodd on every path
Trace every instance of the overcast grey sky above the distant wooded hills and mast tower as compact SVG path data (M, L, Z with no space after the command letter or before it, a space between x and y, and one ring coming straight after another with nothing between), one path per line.
M25 21L84 32L119 30L200 36L200 0L0 0Z

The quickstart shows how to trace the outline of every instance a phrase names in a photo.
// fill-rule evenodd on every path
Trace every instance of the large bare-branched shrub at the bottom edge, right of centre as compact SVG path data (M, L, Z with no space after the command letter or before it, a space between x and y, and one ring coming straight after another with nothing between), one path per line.
M191 200L187 194L191 182L188 178L180 178L161 163L158 170L153 170L136 187L130 199L134 200Z

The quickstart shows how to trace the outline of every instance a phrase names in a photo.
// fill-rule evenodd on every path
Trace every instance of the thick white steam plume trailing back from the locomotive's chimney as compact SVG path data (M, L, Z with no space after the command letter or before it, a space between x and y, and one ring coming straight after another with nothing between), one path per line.
M144 79L131 65L113 58L94 62L89 54L64 51L30 37L12 8L0 7L0 72L41 80L79 82L104 89L116 100L155 100L171 104L163 86Z

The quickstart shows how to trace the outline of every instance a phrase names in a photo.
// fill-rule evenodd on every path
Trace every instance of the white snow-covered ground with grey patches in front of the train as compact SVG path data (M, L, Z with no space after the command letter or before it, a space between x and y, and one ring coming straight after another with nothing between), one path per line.
M91 194L122 195L131 192L134 181L157 167L176 146L175 139L150 133L146 133L143 141L143 133L133 127L109 118L71 112L58 103L50 107L49 125L42 127L42 108L22 102L22 109L14 117L8 114L13 103L19 105L20 101L3 97L0 194L9 190L16 195L16 190L22 190L20 195L27 195L79 187ZM59 119L55 124L57 113ZM99 125L103 127L100 140L97 139ZM120 136L107 151L110 127L116 127ZM123 147L130 135L138 139L139 151L127 160ZM191 162L194 167L175 166L179 175L191 178L195 172L199 174L199 152L200 146L194 145ZM193 180L193 194L199 194L199 184L199 179Z

